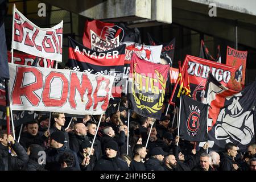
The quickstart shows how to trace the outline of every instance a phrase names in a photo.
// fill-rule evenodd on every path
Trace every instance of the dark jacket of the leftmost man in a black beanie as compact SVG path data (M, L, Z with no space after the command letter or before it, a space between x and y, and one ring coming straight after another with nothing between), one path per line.
M65 145L60 148L48 148L46 150L46 169L49 171L59 171L61 167L59 159L65 152L71 153L75 156L75 167L77 170L80 170L79 160L76 153L69 150Z

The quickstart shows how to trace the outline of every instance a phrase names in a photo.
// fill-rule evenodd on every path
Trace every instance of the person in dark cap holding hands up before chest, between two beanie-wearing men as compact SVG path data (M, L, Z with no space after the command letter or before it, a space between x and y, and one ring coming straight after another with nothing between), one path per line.
M95 143L93 144L95 146ZM77 157L79 159L79 164L81 171L92 171L95 163L96 156L94 155L94 148L90 152L90 148L92 147L92 142L85 140L80 144L80 150L77 153ZM90 156L89 155L90 152Z

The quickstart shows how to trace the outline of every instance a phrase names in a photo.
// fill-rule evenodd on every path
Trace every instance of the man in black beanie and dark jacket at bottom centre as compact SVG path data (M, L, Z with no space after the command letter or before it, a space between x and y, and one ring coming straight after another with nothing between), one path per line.
M96 163L94 171L129 171L128 164L117 156L118 144L110 140L106 144L106 154Z

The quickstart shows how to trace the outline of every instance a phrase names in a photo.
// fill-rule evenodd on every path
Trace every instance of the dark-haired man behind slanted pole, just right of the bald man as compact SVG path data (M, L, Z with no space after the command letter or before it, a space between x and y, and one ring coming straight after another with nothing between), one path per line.
M87 137L89 138L90 142L93 142L94 135L96 135L97 123L93 122L93 121L88 121L88 122L86 122L85 126L88 128ZM95 152L97 160L100 160L100 158L102 156L101 142L100 142L100 140L97 139L97 137L94 141L94 152Z

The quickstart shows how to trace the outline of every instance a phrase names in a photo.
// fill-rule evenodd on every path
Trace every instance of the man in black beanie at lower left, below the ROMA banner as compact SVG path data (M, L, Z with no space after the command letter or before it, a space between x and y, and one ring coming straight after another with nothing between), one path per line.
M80 170L78 158L75 152L65 146L65 134L63 131L54 131L50 136L50 148L46 150L46 169L59 171L61 164L59 158L63 153L71 153L75 157L75 168Z

